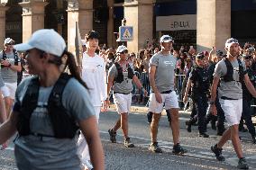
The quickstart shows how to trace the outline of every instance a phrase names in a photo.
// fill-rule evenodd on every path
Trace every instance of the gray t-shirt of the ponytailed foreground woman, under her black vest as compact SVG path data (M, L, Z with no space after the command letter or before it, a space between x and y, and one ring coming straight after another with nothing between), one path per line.
M31 77L18 86L15 103L21 103ZM38 105L32 112L30 127L33 133L53 135L47 102L53 86L40 87ZM95 115L87 89L71 78L62 94L63 106L76 121L86 120ZM81 169L77 154L78 135L74 139L25 136L15 140L14 154L19 169Z

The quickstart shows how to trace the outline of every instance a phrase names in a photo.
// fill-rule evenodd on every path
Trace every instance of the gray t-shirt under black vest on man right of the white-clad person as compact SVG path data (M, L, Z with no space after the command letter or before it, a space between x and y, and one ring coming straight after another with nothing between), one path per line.
M121 66L123 67L123 82L117 83L114 81L113 90L115 93L129 94L133 91L133 79L128 78L128 64L129 63ZM129 66L133 69L133 74L135 74L133 66L131 64L129 64ZM110 67L109 76L113 76L114 78L118 76L118 71L115 65Z

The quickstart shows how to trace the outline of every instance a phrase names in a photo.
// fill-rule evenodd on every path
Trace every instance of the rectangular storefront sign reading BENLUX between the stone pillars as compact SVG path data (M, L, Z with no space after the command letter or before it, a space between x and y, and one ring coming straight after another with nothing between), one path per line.
M156 31L197 30L197 14L157 16Z

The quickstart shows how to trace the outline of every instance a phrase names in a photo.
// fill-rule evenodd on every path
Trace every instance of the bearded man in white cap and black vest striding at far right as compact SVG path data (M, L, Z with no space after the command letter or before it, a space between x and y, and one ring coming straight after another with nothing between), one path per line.
M215 157L224 161L222 155L224 144L231 139L234 151L239 158L238 168L248 169L245 158L242 156L242 146L239 139L239 122L242 116L242 81L244 81L249 92L255 97L256 91L251 84L243 61L239 58L240 47L238 40L233 38L226 40L225 50L227 57L215 66L214 81L211 89L210 110L216 115L215 98L218 89L219 103L224 111L224 116L229 128L224 131L219 142L211 147ZM219 81L221 81L219 85ZM219 87L218 87L219 85Z

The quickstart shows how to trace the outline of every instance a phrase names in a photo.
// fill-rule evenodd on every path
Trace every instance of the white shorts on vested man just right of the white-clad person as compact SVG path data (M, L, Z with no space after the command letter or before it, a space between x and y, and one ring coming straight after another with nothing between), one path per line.
M129 112L132 104L132 93L130 94L114 94L114 103L119 114Z

